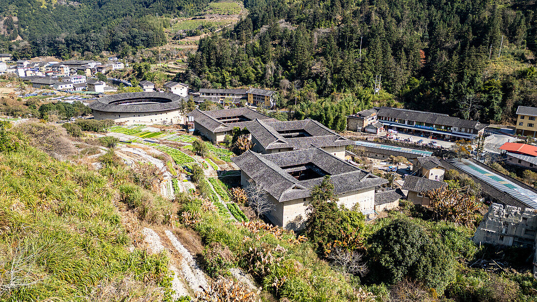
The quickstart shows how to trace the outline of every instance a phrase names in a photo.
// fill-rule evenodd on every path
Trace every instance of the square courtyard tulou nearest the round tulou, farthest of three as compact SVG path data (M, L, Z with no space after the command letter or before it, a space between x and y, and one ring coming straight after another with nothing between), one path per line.
M246 122L271 119L269 116L244 107L212 111L201 111L196 108L187 116L194 120L194 129L214 144L222 142L226 135L231 135L234 127L242 129L246 126Z

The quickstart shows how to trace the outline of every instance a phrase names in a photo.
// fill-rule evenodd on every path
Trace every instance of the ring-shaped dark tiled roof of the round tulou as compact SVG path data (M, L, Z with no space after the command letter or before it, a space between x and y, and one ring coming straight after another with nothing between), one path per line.
M180 108L183 97L163 92L129 92L105 95L89 107L102 112L158 112Z

